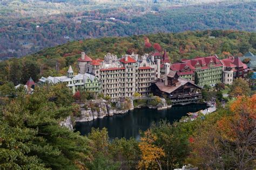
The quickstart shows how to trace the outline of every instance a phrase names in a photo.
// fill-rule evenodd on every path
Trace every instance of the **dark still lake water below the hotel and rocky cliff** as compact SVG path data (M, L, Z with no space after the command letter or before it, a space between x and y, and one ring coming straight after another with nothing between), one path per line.
M77 122L76 131L82 135L88 134L91 128L107 128L110 139L125 137L129 139L134 137L139 138L139 130L147 130L153 122L159 124L160 119L166 119L169 122L179 121L187 112L196 112L201 109L206 109L205 104L188 104L177 105L167 110L156 109L134 109L124 115L107 116L102 119L95 119L90 122Z

